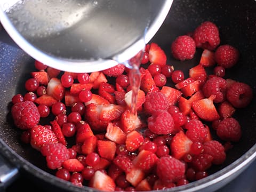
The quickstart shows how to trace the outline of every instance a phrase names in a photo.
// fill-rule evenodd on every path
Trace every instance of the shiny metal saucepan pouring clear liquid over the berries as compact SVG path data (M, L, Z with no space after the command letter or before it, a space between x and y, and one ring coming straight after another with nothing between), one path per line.
M0 21L35 59L62 70L92 72L142 50L171 4L172 0L1 0Z

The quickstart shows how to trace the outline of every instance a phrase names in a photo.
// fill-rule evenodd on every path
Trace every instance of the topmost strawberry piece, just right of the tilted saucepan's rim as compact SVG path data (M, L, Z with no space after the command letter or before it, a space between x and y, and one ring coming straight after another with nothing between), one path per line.
M149 61L163 67L166 65L166 54L156 43L151 43L149 48Z

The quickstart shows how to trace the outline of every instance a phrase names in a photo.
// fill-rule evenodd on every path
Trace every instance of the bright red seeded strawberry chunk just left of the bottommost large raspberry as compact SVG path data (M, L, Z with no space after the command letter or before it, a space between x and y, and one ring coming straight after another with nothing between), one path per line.
M148 171L154 167L158 157L151 151L141 150L140 153L133 159L132 163L135 167Z

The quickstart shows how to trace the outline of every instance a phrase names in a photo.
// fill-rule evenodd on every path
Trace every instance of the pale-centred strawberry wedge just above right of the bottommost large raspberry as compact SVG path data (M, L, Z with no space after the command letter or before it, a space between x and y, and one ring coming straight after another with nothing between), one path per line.
M171 154L174 158L181 159L188 154L192 145L192 141L183 131L175 134L171 141Z

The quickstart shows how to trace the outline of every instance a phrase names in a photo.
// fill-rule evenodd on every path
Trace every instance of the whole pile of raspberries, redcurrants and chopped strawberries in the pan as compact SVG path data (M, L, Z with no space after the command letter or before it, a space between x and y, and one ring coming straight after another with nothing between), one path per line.
M223 78L239 53L219 44L218 27L208 21L174 40L171 52L178 60L204 49L188 77L166 64L156 43L146 45L137 114L131 113L130 70L123 65L75 74L36 61L28 93L12 98L14 124L58 178L77 186L142 191L202 179L212 165L225 162L226 146L241 138L233 115L253 97L249 85ZM205 68L214 66L207 74Z

